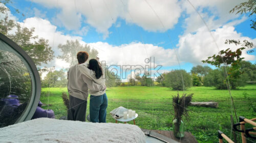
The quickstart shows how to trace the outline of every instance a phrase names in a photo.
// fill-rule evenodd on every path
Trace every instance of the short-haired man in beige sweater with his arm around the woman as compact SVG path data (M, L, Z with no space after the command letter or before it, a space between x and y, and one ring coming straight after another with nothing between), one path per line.
M78 64L68 71L69 105L68 120L86 121L88 89L104 91L105 86L99 85L78 70L78 65L85 63L89 58L86 51L77 53Z

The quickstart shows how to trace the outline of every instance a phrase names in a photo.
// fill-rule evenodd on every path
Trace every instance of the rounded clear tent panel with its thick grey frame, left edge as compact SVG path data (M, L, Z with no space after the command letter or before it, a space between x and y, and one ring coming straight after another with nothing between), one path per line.
M1 93L4 93L1 95L1 101L16 100L15 102L18 102L17 107L13 108L13 110L16 111L16 115L13 117L13 120L11 120L10 117L7 118L6 122L9 123L1 122L0 126L3 127L28 121L32 118L39 102L41 83L34 62L22 48L1 33L0 45L0 78L4 79L8 76L7 80L1 80L0 83L0 89L5 90L5 92L1 91ZM4 54L2 55L2 53ZM5 66L5 64L7 64L7 66ZM7 69L7 67L12 68ZM15 70L17 71L16 73ZM7 76L5 74L7 74ZM17 81L17 79L20 80ZM7 97L6 95L8 94L9 96ZM5 108L8 108L8 105L1 105L0 118L3 116L2 113Z

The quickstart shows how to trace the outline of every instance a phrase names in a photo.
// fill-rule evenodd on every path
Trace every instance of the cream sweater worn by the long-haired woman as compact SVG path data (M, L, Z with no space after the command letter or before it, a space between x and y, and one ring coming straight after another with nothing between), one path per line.
M88 69L87 67L88 67L88 64L85 64L85 63L78 65L78 69L83 75L87 76L92 82L97 83L102 87L106 87L105 79L103 78L104 76L101 76L99 79L97 79L95 77L95 72L93 70ZM90 95L100 96L106 93L106 88L104 90L99 91L99 90L96 90L95 88L91 89L89 87L89 93Z

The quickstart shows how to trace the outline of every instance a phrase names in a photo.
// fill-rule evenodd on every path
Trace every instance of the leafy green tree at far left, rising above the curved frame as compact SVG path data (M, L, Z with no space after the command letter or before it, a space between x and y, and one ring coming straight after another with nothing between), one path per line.
M11 1L0 1L0 3L5 5L11 3ZM5 6L0 6L0 13L5 15L5 17L0 20L0 32L22 47L36 66L47 64L51 61L53 59L53 51L48 44L49 41L38 38L38 36L33 36L34 28L22 28L16 21L8 19L8 11L10 10ZM17 9L16 11L18 12ZM9 34L8 32L14 27L17 28L17 31L14 34Z

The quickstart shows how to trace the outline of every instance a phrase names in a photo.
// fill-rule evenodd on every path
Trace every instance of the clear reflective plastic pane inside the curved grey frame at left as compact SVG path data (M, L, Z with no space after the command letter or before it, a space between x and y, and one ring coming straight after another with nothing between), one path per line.
M32 95L30 74L12 48L0 40L0 127L14 124ZM7 51L9 50L9 51Z

